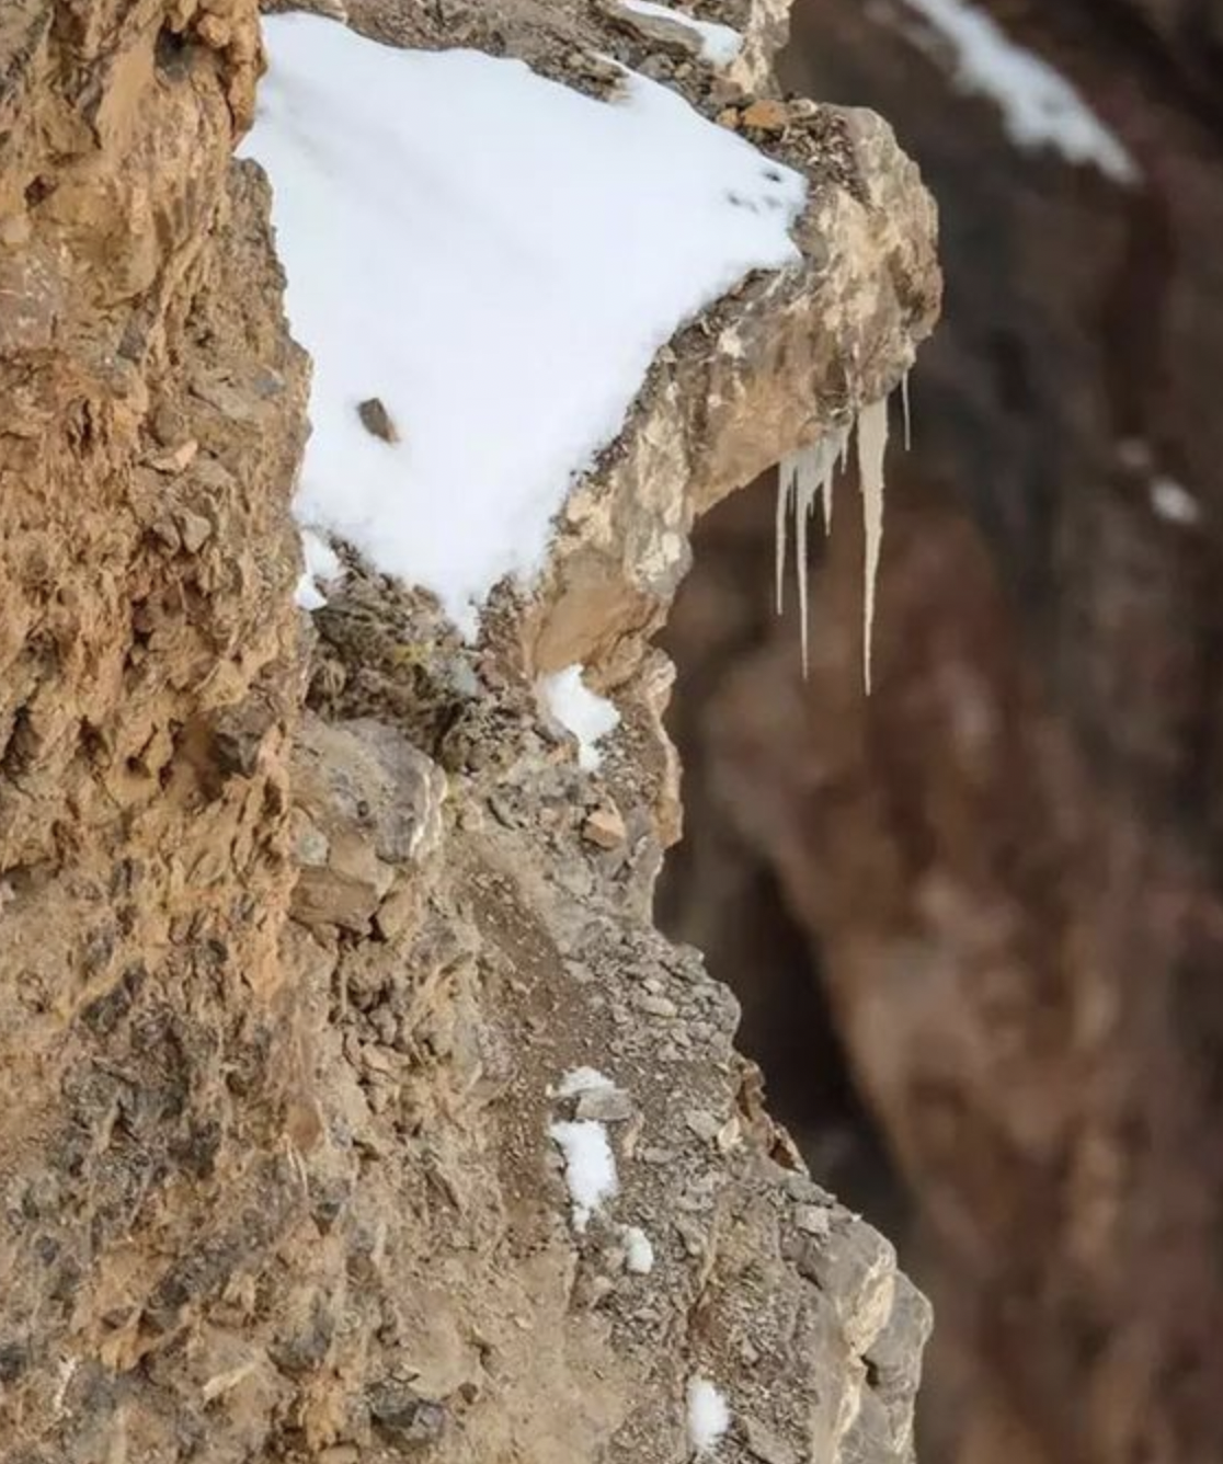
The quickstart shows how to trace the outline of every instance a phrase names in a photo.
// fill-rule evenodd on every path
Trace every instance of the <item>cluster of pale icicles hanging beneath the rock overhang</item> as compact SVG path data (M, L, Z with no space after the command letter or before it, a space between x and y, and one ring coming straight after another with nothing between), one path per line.
M902 385L905 447L908 447L908 378ZM794 558L798 575L798 619L803 641L803 675L807 675L807 520L816 499L823 505L825 533L832 533L832 480L838 466L845 470L850 436L858 429L858 485L866 529L866 589L863 594L863 673L870 694L870 644L874 627L874 583L883 543L883 455L888 449L888 398L863 407L857 422L833 427L808 448L784 458L778 470L776 594L778 615L784 608L787 524L794 515Z

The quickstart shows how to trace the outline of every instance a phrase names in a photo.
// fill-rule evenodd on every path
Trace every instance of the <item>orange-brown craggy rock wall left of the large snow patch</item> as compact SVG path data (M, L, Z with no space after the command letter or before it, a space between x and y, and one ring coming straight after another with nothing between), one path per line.
M12 1460L179 1457L187 1318L296 1206L275 943L305 372L265 187L230 164L253 4L190 12L0 19Z

